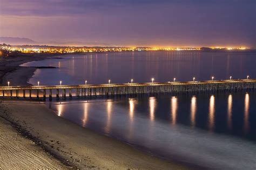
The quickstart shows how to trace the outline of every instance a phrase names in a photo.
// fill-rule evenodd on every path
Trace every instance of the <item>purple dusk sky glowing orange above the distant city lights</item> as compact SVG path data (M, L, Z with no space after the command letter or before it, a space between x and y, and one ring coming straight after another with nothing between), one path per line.
M255 0L0 0L0 37L256 47Z

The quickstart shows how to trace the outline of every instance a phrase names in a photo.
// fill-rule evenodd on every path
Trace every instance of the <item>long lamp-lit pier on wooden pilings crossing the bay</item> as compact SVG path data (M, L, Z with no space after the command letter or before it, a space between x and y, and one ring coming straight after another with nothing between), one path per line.
M256 79L173 81L163 83L85 84L55 86L0 86L2 98L86 98L156 93L204 93L254 90Z

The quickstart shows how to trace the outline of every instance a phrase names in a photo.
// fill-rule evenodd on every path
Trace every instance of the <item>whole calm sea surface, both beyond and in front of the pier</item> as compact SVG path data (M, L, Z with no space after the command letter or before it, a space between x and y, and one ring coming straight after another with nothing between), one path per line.
M256 78L256 52L116 52L69 55L24 66L31 84L99 84ZM256 169L256 92L46 102L60 117L158 157L221 169Z

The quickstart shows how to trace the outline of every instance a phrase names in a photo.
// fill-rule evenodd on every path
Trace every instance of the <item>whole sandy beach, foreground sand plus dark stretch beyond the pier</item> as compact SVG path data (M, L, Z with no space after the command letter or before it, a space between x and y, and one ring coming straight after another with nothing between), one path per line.
M26 85L36 68L19 67L18 65L44 58L44 56L1 58L1 84L5 85L5 82L10 80L12 85ZM0 160L2 166L0 168L31 167L31 164L35 168L55 167L58 169L191 168L191 166L161 160L123 142L80 127L69 120L58 117L40 101L8 99L0 101L0 147L4 148L0 151L0 154L3 155ZM13 138L19 144L6 142ZM19 147L21 145L24 148ZM11 149L9 152L8 148L12 148L16 152L22 149L24 152L15 154ZM27 157L31 159L25 159ZM21 162L8 162L8 159ZM26 161L23 161L24 159ZM35 160L35 164L31 163L32 160ZM1 164L1 162L7 163Z

